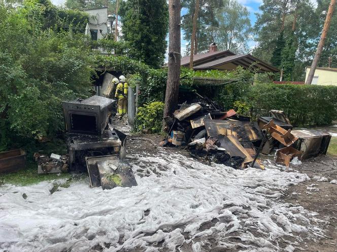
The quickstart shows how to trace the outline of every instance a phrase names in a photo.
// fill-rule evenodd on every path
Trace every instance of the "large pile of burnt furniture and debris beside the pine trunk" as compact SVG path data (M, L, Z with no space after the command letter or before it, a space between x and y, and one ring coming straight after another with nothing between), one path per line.
M290 165L298 160L326 154L331 136L317 131L295 130L283 111L257 122L233 109L222 111L209 99L182 104L173 117L164 118L167 132L161 146L188 149L194 158L222 163L235 169L264 166L259 154L275 150L275 162ZM309 146L304 143L311 143Z

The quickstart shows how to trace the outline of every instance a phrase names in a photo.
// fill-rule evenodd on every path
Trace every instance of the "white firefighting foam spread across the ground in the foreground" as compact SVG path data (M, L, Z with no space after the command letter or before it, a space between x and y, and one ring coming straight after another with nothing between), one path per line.
M234 170L158 151L134 161L138 186L0 188L0 250L293 251L320 221L278 198L307 175Z

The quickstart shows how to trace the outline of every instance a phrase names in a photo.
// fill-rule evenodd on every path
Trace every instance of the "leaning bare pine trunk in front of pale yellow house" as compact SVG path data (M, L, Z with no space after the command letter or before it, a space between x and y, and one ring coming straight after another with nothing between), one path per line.
M311 84L311 82L313 81L314 74L315 74L316 67L317 67L317 63L318 63L319 58L321 57L321 54L322 54L322 51L323 51L323 46L324 46L324 43L325 43L326 34L327 34L327 32L329 30L329 27L330 27L331 17L332 17L332 14L333 14L335 4L336 4L336 0L331 0L330 5L329 5L328 13L326 14L321 39L319 40L319 43L318 43L318 46L317 46L317 51L315 53L313 63L311 64L311 68L310 68L310 71L309 71L309 74L308 74L308 78L306 80L306 84Z

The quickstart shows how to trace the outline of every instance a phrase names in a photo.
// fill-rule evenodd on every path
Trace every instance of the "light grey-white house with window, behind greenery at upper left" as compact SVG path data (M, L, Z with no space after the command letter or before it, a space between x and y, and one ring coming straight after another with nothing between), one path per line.
M89 14L85 34L92 40L104 38L108 33L108 7L89 9L85 12Z

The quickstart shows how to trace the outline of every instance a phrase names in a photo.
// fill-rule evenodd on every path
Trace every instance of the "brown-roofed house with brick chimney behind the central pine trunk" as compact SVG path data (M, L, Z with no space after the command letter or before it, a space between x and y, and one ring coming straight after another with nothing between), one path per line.
M188 67L190 56L181 58L181 66ZM279 70L250 54L234 54L229 50L218 51L217 45L212 43L208 53L193 56L194 70L234 70L238 66L251 68L256 72L278 72Z

